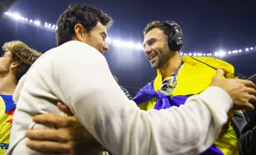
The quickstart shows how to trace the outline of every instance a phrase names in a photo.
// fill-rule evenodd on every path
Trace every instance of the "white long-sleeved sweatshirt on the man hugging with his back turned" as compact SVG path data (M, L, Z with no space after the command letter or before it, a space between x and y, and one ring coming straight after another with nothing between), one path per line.
M57 101L116 155L202 153L218 137L233 106L223 89L209 87L179 108L141 111L115 82L104 56L78 41L43 54L19 81L14 101L7 151L14 155L37 154L26 147L25 132L42 128L32 121L38 113L63 115Z

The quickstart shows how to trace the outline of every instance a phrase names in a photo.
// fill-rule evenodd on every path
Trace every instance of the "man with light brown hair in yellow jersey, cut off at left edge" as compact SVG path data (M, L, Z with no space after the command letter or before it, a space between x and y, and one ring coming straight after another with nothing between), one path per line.
M0 154L9 148L11 124L16 104L13 93L19 79L29 70L41 53L21 41L3 44L0 58Z

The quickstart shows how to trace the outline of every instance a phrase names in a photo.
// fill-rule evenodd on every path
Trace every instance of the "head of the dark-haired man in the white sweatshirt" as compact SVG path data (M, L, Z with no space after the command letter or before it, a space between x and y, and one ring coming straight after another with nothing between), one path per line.
M106 29L112 25L113 19L93 6L81 6L79 4L69 6L57 21L57 46L70 40L81 39L82 42L86 42L103 53L109 50L105 41L107 38ZM74 34L78 35L79 38L75 38ZM95 40L101 40L101 42L95 42Z

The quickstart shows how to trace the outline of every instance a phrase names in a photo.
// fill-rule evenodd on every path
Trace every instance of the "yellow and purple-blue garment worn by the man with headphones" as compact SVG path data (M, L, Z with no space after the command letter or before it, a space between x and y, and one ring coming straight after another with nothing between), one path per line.
M228 78L235 78L234 67L229 63L209 57L197 57L196 59L216 69L221 68L229 75ZM150 109L166 109L172 106L179 107L185 103L187 97L201 93L209 87L216 70L189 56L183 56L182 62L182 67L175 76L162 79L161 72L157 71L157 78L143 87L133 99L139 108L149 111ZM173 82L174 78L177 78L176 82ZM239 152L238 145L232 124L227 123L213 147L221 150L221 153L215 154L237 155Z

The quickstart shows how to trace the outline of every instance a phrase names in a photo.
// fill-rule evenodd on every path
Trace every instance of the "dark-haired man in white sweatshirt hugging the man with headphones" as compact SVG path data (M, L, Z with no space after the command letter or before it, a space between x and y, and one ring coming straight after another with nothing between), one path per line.
M38 154L37 151L49 154L50 150L54 150L52 154L85 154L97 149L92 145L97 141L114 154L198 154L213 144L231 107L244 108L248 100L256 100L253 83L222 79L224 72L218 70L210 72L215 76L205 87L209 88L189 97L184 106L141 111L127 99L107 66L102 54L109 50L105 40L109 25L102 24L105 20L99 17L111 18L95 10L70 6L61 15L58 28L62 29L60 23L74 26L73 35L69 31L57 33L57 39L65 38L58 41L61 46L47 51L19 82L14 100L20 106L14 114L7 154ZM70 25L73 18L76 24ZM95 18L98 22L87 31L93 21L81 18ZM58 101L65 103L75 117L61 117L64 113L58 109ZM44 119L38 121L41 116ZM28 129L34 132L27 132ZM93 139L85 142L86 129L86 134L96 142ZM67 134L62 134L63 130ZM26 136L33 140L28 141ZM77 146L83 152L76 151ZM98 151L101 153L102 148Z

